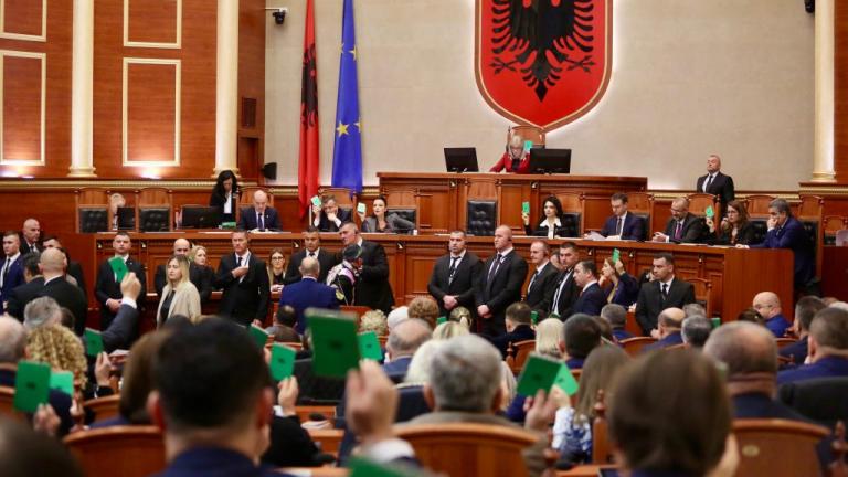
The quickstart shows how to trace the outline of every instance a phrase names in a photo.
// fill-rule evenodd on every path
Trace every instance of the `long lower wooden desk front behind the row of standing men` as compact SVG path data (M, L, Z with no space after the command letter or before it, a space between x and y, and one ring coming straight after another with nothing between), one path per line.
M96 267L98 263L112 256L113 233L92 235ZM194 244L208 248L210 266L218 267L222 255L232 252L229 232L168 232L134 233L131 255L147 267L147 286L153 290L156 267L165 264L171 256L173 241L188 239ZM365 234L367 240L379 242L385 248L389 259L390 282L396 304L406 303L416 295L427 295L427 283L436 259L447 253L446 235L393 235ZM340 240L335 233L321 234L322 246L338 251ZM516 250L529 258L531 237L516 237ZM251 251L261 259L267 261L273 248L282 248L286 256L299 250L301 235L294 233L253 234ZM549 241L551 246L563 242ZM492 252L491 237L468 237L468 248L481 259ZM598 265L612 256L613 250L621 251L627 271L636 276L650 268L654 255L670 252L675 255L677 274L683 278L706 278L712 283L710 299L713 310L723 320L735 319L744 308L751 306L754 295L763 290L776 293L787 318L792 318L792 276L793 256L788 250L739 250L710 247L704 245L674 245L638 242L592 242L576 241L581 254L592 257ZM598 266L598 269L601 267ZM96 269L96 268L94 268ZM532 267L530 271L532 272ZM528 280L530 275L528 275ZM94 283L94 280L92 280ZM526 282L527 285L527 282Z

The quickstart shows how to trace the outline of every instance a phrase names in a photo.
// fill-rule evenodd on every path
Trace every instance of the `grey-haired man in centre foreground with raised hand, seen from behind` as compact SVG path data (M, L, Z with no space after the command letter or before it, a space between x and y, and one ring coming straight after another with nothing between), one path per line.
M516 426L496 415L500 410L501 359L498 350L475 335L452 338L438 347L431 363L431 379L424 385L424 399L433 412L404 425L476 423L494 426ZM527 413L524 428L539 439L523 451L530 475L540 475L545 467L542 452L548 445L549 422L555 403L540 391Z

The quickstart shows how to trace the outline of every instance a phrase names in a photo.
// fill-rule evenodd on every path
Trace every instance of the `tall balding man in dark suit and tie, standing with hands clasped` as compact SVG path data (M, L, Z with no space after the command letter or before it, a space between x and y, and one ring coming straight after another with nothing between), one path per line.
M495 230L495 252L484 265L475 293L477 315L483 322L480 332L490 337L507 332L507 307L521 300L521 286L527 278L527 262L512 248L512 230L508 225Z

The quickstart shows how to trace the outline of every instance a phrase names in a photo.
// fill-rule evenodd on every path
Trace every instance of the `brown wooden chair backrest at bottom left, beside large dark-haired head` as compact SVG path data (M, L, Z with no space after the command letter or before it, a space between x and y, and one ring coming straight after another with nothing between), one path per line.
M142 477L165 469L165 443L155 426L113 426L64 438L88 477Z

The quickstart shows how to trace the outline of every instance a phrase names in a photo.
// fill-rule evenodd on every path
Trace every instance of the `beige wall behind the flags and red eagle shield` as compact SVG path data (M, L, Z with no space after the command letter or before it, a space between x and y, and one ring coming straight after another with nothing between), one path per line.
M267 20L265 160L297 182L305 0ZM316 0L321 183L332 171L341 0ZM474 80L474 0L357 0L364 183L378 171L442 171L444 146L480 168L509 121ZM572 172L693 188L710 152L738 189L792 190L812 173L813 15L798 0L615 0L613 75L586 116L548 135Z

